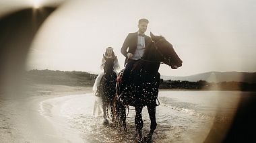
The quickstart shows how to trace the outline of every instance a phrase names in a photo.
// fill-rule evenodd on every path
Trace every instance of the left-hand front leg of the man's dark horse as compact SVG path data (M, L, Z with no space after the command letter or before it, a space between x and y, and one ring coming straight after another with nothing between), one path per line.
M135 128L136 128L136 134L135 134L135 140L141 141L142 138L142 128L143 128L143 120L142 120L142 108L143 107L135 107L136 115L135 115Z

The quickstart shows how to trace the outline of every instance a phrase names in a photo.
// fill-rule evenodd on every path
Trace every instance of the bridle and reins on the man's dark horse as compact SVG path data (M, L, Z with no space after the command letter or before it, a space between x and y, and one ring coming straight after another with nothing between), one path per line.
M161 56L162 59L164 59L166 62L168 62L168 65L170 65L170 57L169 58L166 58L164 56L164 54L162 54L162 52L160 50L158 50L158 44L159 42L162 42L162 41L166 41L167 40L165 38L161 38L160 40L158 40L157 42L154 41L154 46L155 46L155 49L156 49L156 52L158 52ZM155 52L155 58L156 58L156 52ZM145 60L143 58L139 58L140 60L143 60L145 62L152 62L152 63L158 63L160 62L160 64L164 64L164 62L160 61L160 60Z

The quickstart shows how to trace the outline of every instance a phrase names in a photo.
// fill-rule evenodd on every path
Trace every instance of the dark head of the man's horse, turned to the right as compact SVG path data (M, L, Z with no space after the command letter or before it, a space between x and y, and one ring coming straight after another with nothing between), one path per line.
M154 47L157 50L158 60L164 62L164 64L168 64L172 69L177 69L182 66L182 60L174 51L172 44L170 44L164 37L162 36L154 36L150 32L150 36L154 42Z

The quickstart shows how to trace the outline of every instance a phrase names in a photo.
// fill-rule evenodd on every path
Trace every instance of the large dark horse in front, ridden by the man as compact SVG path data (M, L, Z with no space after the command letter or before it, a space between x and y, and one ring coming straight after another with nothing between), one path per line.
M163 62L172 69L182 66L182 60L172 48L172 44L162 36L154 36L152 33L150 33L150 36L152 42L146 47L141 60L135 63L127 87L121 89L121 86L119 86L122 82L123 72L119 73L117 81L115 119L118 119L117 122L126 130L125 105L135 107L136 142L152 142L152 135L156 129L156 99L160 85L160 74L158 73L160 63ZM143 120L141 111L144 106L148 107L151 126L150 133L142 138Z

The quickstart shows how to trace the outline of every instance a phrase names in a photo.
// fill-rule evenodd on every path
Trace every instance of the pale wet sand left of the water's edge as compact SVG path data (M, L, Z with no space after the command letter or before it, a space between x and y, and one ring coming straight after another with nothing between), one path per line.
M65 137L58 124L59 115L53 117L53 105L47 99L91 93L92 87L69 87L63 85L32 85L25 96L0 99L1 142L79 142L75 136ZM71 96L72 97L72 96ZM61 102L61 101L58 101ZM51 119L56 119L52 122Z

